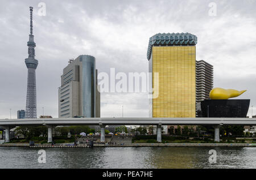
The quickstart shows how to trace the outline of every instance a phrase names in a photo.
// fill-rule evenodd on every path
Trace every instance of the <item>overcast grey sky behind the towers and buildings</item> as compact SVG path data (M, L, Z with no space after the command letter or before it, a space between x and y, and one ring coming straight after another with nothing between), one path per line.
M39 16L40 2L46 16ZM210 16L210 2L216 16ZM256 106L256 1L0 1L0 119L25 109L34 7L38 116L58 117L58 87L68 59L96 57L99 72L147 72L148 40L156 33L197 36L196 59L214 66L214 87L247 89ZM211 11L212 12L212 11ZM102 93L101 117L147 117L145 93ZM251 115L251 108L249 109ZM256 108L254 109L256 114Z

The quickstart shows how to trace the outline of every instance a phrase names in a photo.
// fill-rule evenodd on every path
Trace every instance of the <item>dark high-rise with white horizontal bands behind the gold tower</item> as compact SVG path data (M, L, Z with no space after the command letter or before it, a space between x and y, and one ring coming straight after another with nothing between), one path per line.
M208 100L213 88L213 66L204 60L196 61L196 103Z

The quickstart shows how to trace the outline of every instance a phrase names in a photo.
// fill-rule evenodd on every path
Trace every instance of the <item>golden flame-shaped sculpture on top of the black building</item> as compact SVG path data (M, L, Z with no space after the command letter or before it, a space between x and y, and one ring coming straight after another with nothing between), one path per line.
M212 100L227 100L228 98L240 96L245 91L246 90L237 91L235 89L213 88L212 91L210 91L210 98Z

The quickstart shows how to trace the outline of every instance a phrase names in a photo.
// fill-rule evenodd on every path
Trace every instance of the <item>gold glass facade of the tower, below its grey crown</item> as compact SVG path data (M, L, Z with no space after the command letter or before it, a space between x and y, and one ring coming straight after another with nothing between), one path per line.
M159 95L152 117L196 117L196 46L152 46L152 87L159 74Z

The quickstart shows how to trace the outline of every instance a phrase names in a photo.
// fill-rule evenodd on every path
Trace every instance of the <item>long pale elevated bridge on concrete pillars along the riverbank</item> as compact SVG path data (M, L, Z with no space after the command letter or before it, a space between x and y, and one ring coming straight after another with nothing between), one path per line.
M214 126L214 141L220 142L222 125L256 125L256 118L35 118L35 119L0 119L0 128L5 129L5 142L10 142L10 129L16 126L47 126L48 143L52 142L52 127L99 125L101 142L105 142L106 125L155 125L157 140L162 142L162 125L205 125Z

